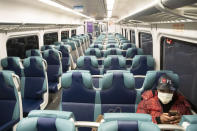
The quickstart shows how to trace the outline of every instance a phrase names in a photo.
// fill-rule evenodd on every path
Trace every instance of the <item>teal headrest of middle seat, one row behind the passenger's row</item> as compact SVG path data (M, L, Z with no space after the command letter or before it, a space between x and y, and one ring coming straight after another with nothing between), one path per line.
M126 59L123 56L121 56L121 55L119 55L119 56L109 55L109 56L107 56L107 58L104 59L104 67L111 66L111 64L112 64L111 62L112 62L113 59L118 59L120 67L125 67L126 66Z

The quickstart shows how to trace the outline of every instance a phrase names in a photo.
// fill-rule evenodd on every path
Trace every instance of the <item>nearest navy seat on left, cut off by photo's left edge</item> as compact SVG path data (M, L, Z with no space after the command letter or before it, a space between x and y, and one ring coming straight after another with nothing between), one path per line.
M12 130L22 118L18 91L20 79L12 71L0 71L0 130Z

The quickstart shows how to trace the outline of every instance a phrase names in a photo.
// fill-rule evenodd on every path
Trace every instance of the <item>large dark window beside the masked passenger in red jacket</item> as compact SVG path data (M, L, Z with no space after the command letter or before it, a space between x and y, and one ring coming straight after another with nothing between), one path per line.
M197 44L162 37L161 69L180 77L179 91L197 109Z

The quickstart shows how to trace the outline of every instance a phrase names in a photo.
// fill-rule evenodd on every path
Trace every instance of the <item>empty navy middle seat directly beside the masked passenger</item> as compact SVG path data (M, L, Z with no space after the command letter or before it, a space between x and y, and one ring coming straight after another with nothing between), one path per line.
M107 73L103 76L100 92L102 113L135 112L140 95L135 90L135 80L131 73Z

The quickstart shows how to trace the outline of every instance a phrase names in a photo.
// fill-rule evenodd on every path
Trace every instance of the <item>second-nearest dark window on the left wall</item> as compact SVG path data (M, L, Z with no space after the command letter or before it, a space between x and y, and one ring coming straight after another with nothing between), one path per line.
M58 41L58 33L57 32L44 34L44 45L51 45L56 41Z

